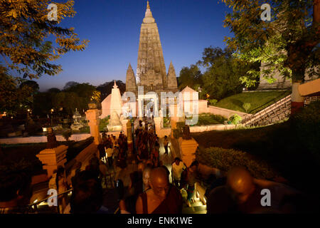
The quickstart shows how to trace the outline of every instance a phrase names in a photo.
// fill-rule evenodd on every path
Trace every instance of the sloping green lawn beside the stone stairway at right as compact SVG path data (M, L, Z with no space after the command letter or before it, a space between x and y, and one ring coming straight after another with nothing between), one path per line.
M263 108L272 105L272 103L284 98L290 93L290 90L239 93L219 100L219 102L216 103L215 106L219 108L238 110L245 113L245 109L242 108L242 105L244 103L250 103L251 107L249 108L249 110L247 110L247 113L254 114L262 110Z

